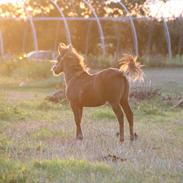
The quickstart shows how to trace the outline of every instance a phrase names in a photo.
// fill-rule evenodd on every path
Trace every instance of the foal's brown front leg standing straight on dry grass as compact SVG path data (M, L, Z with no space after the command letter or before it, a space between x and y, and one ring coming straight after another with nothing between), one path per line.
M81 130L81 118L82 118L83 108L74 103L71 103L71 108L74 113L74 120L76 123L76 139L82 140L83 133Z

